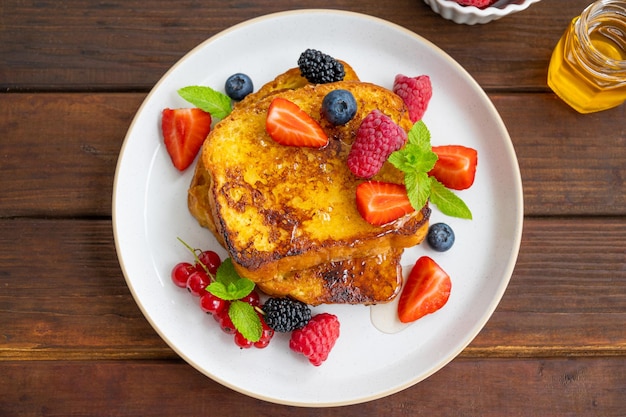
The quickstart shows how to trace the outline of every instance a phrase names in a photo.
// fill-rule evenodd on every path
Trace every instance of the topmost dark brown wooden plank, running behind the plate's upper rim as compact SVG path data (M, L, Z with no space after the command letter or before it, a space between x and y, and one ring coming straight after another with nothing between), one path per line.
M424 2L390 8L364 0L341 8L389 20L430 40L488 89L546 90L554 45L587 0L550 0L488 25L458 25ZM557 6L554 6L558 3ZM88 0L0 3L0 90L147 91L185 53L244 20L332 0L232 3ZM400 12L401 11L401 12ZM514 30L513 30L514 29ZM77 33L83 36L76 36ZM524 33L520 38L517 34Z

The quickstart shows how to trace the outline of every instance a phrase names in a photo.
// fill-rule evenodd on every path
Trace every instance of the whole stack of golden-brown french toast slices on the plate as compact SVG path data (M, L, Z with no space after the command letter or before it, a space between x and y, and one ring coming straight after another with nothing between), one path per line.
M363 179L346 159L361 120L378 109L407 132L403 100L361 82L345 62L343 81L314 85L298 68L280 74L237 103L205 141L188 193L198 222L227 250L237 272L271 296L310 305L385 303L400 291L400 259L428 230L427 206L391 223L367 223L356 207ZM333 89L350 91L355 117L334 126L321 115ZM281 145L268 135L271 101L282 97L319 122L323 148ZM404 174L386 162L373 180L402 184Z

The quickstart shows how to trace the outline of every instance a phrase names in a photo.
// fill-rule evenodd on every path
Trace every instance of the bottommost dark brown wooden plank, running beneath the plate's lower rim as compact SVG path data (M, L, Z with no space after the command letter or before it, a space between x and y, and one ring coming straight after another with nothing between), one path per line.
M325 409L296 409L233 393L181 362L2 362L0 374L4 417L501 417L503 410L524 417L621 417L626 396L624 357L457 359L390 397Z

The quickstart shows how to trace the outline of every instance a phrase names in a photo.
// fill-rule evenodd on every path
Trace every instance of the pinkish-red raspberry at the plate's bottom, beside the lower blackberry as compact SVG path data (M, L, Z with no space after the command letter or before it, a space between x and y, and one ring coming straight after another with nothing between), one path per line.
M338 337L337 316L321 313L314 316L302 329L291 333L289 348L306 356L313 365L320 366L328 358Z

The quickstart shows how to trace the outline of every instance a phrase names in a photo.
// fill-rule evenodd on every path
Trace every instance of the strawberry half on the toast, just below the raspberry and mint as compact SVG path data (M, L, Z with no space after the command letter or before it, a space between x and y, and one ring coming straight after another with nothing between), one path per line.
M357 186L356 207L361 217L374 226L415 211L404 185L380 181L366 181Z

